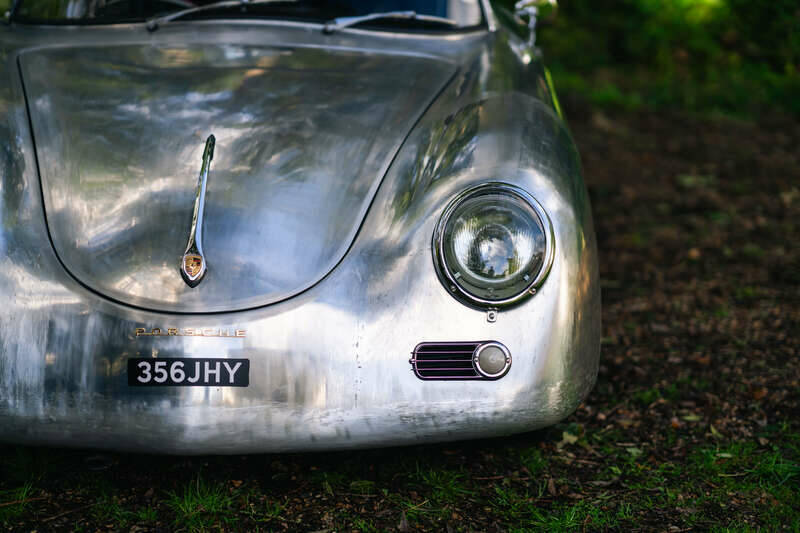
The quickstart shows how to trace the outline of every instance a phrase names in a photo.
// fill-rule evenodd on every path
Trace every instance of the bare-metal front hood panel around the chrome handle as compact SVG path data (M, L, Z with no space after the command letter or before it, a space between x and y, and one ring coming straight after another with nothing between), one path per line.
M266 305L324 277L455 70L233 45L45 48L19 64L61 261L98 293L178 312ZM180 258L210 134L208 273L190 288Z

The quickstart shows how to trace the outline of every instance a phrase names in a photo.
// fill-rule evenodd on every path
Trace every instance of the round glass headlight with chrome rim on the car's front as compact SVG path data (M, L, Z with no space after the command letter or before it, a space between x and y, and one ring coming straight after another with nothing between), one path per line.
M439 277L455 296L481 307L509 305L533 294L550 270L550 219L518 187L479 185L445 209L433 255Z

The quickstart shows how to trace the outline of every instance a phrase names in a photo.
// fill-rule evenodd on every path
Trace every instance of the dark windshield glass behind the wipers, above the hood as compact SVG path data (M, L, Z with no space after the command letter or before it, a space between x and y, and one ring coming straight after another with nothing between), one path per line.
M208 5L218 0L18 0L13 18L45 24L113 24L142 22L187 8ZM296 0L228 6L192 13L191 18L270 18L326 22L337 17L352 17L389 11L415 11L452 20L453 28L481 24L479 0ZM364 26L424 27L414 19L377 19ZM442 26L431 26L442 31ZM444 28L446 29L446 28ZM450 28L452 30L452 28Z

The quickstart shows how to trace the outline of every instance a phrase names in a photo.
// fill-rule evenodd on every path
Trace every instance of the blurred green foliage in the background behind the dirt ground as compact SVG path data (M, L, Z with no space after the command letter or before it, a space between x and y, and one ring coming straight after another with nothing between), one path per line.
M562 96L800 116L797 0L560 0L537 33Z

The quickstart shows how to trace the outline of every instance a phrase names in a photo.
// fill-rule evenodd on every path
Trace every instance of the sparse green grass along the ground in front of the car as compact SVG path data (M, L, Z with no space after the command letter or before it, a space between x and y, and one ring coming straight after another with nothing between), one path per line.
M679 391L691 385L687 380L675 386ZM633 394L630 401L649 404L673 395L672 386L652 387ZM693 424L681 430L683 439L691 432L711 431L702 420ZM665 431L676 432L672 428ZM620 445L629 438L620 427L589 431L576 424L562 424L551 434L559 452L530 445L500 448L502 453L494 459L503 461L502 466L494 466L499 475L484 478L468 477L457 461L433 464L420 452L385 470L385 476L377 480L357 477L356 472L363 470L358 461L332 464L324 471L311 469L314 475L309 479L326 496L330 496L327 486L334 495L348 493L363 498L360 501L364 504L385 501L383 505L392 516L399 521L405 514L412 528L430 529L431 524L444 528L454 513L463 512L460 509L465 503L480 502L483 512L508 531L641 528L639 517L659 509L673 510L671 523L680 528L800 531L800 434L788 421L766 426L752 441L729 441L719 436L716 445L709 444L712 440L689 448L686 459L680 462L651 456L646 446L631 453L636 447ZM768 444L759 444L759 438ZM580 481L565 475L562 467L569 461L570 452L586 447L596 452L596 466L587 467L591 473ZM595 489L598 486L601 488ZM0 523L12 524L31 511L33 487L29 481L0 492L0 503L18 502L0 507ZM88 501L93 499L86 511L93 523L113 524L117 529L156 527L160 523L185 531L204 531L235 528L244 519L253 528L272 530L297 520L288 499L268 495L257 483L234 488L227 481L208 480L200 474L179 483L176 490L157 493L145 506L128 503L128 493L117 488L105 473L78 476L74 490L84 495L84 501L85 496ZM569 496L576 494L580 497L575 500ZM368 509L331 505L329 525L341 530L382 530L386 522L371 516ZM745 509L755 522L731 514L730 509ZM76 522L75 527L80 530L84 526Z

